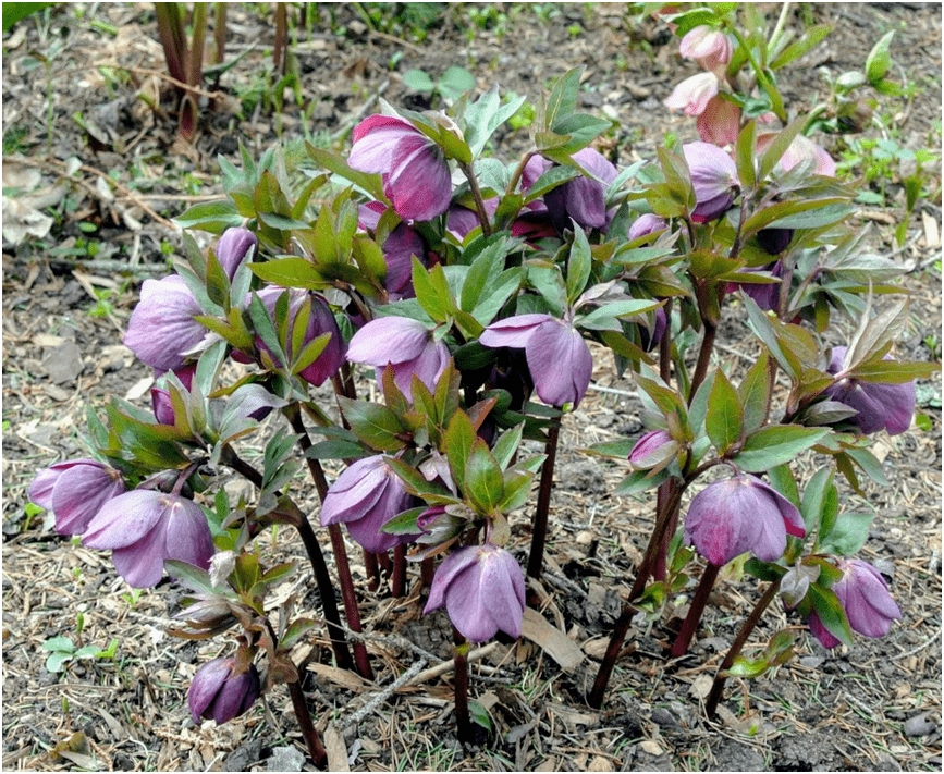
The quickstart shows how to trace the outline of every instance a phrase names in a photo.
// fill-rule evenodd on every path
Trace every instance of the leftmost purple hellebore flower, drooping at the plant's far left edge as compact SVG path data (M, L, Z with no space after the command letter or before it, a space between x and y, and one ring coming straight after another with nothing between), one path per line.
M37 474L28 496L52 512L57 532L82 535L101 507L124 491L124 481L114 468L95 459L71 459Z

